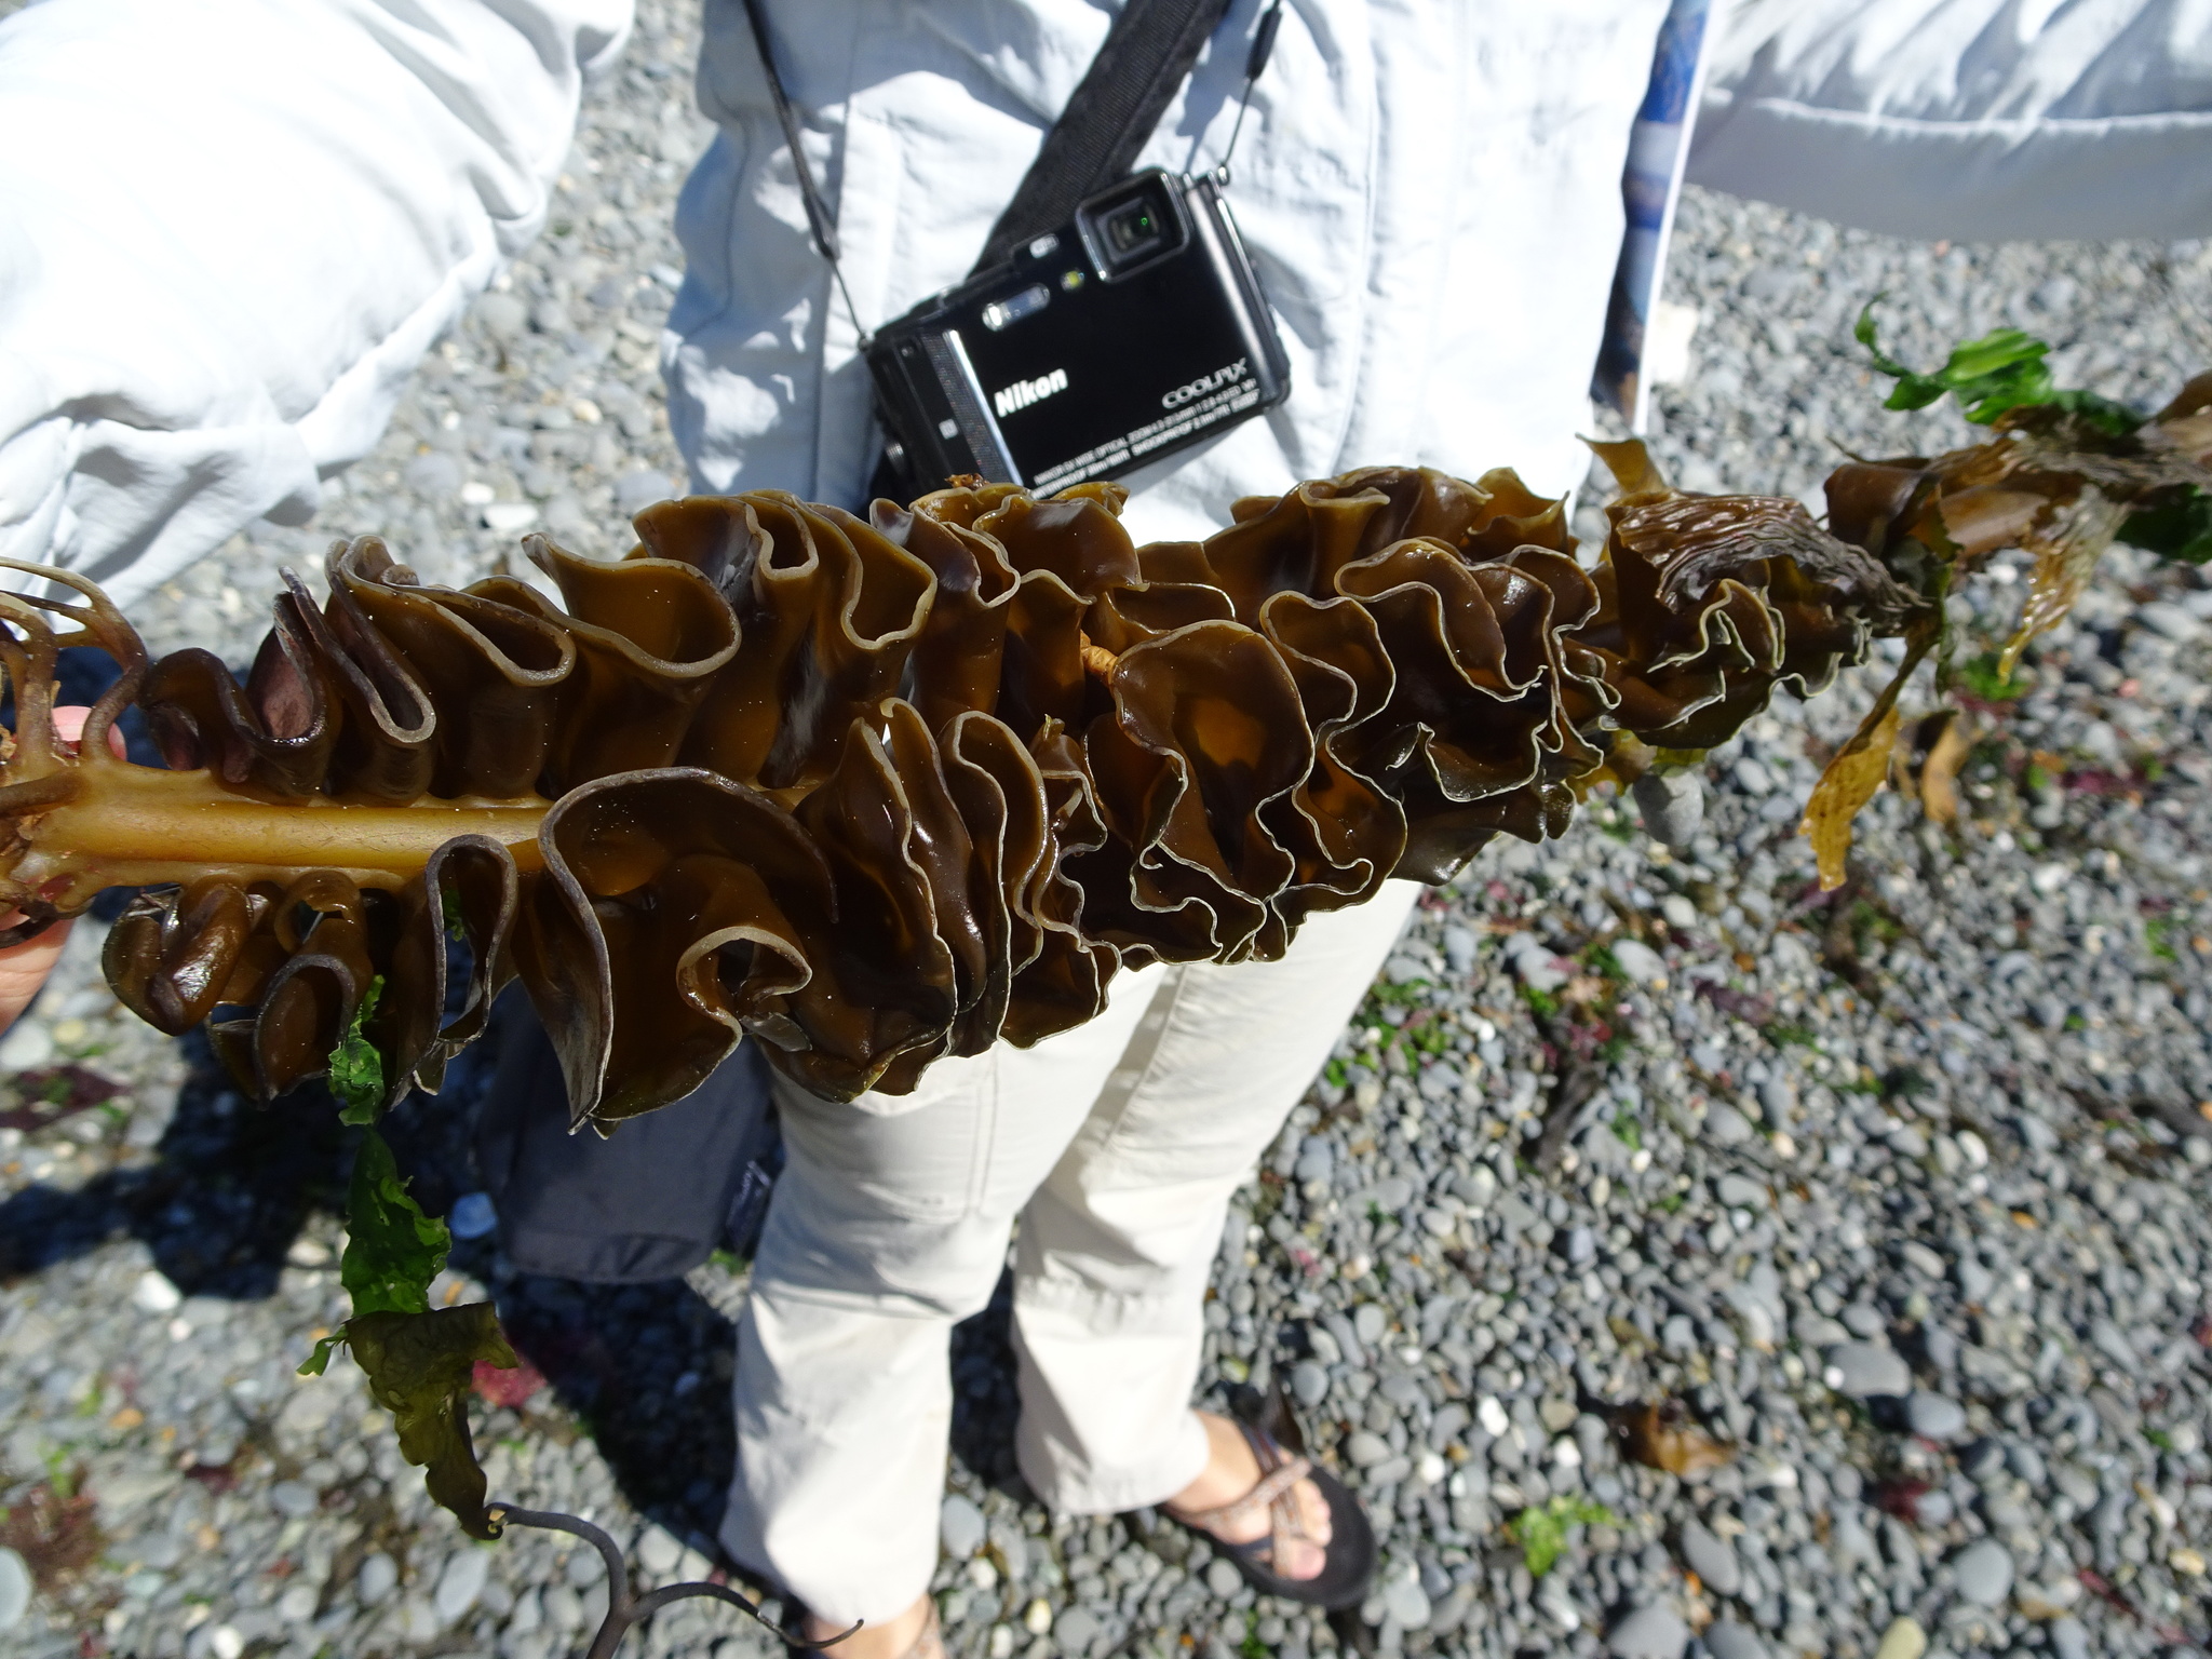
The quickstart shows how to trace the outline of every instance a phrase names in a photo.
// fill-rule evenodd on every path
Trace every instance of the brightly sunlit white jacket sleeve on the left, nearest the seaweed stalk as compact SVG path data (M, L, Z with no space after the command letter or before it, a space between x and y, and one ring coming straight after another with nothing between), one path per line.
M303 522L540 228L630 0L44 0L0 24L0 557L117 602Z

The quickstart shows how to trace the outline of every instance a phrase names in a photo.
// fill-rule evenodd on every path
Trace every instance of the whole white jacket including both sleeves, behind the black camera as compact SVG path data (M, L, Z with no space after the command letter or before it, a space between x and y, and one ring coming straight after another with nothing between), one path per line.
M1259 4L1232 4L1144 161L1219 157ZM770 0L865 323L967 272L1113 11ZM1913 11L1942 27L1916 35ZM1661 13L1292 0L1232 204L1294 392L1155 480L1135 529L1203 533L1237 495L1367 462L1579 478ZM1865 24L1880 51L1854 44ZM312 513L538 232L582 84L626 29L628 0L44 0L0 24L0 555L128 602L257 515ZM1889 166L1927 206L1907 230L1997 234L2033 204L2039 234L2194 234L2212 228L2208 42L2205 0L1750 0L1699 166L1867 219L1891 201L1869 168ZM721 137L679 210L677 436L699 487L852 500L854 321L827 305L737 0L706 0L699 88ZM2099 97L2132 124L2112 168L2093 159L2119 131L2093 124ZM1960 155L1947 108L2008 181L1995 217L1973 168L1913 161ZM1812 146L1774 137L1807 126ZM2022 188L2044 153L2064 188Z

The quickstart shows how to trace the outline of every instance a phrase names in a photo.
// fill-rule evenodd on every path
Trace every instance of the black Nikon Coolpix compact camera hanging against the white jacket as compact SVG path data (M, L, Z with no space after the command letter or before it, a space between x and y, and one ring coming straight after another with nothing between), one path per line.
M1119 478L1290 396L1219 179L1159 168L889 323L867 367L918 491Z

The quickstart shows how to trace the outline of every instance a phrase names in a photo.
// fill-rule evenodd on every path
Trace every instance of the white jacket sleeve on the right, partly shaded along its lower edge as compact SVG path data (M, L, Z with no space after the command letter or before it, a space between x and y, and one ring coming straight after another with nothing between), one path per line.
M1690 179L1900 237L2212 234L2212 0L1734 0Z

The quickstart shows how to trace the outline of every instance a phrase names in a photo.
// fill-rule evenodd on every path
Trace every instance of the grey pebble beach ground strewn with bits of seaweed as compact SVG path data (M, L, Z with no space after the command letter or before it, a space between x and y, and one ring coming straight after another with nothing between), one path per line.
M312 526L257 526L142 608L155 650L248 659L276 568L319 580L334 535L427 580L520 575L522 531L613 555L679 489L657 352L695 53L695 11L646 0L549 234ZM1840 449L1964 442L1949 409L1878 407L1849 338L1878 292L1916 365L2000 323L2143 405L2212 365L2212 243L1902 243L1692 190L1668 299L1699 330L1652 445L1674 480L1818 507ZM1962 657L2017 613L2024 566L2000 577L1953 599ZM1681 849L1593 801L1433 891L1239 1194L1208 1303L1206 1387L1287 1391L1374 1513L1374 1597L1332 1628L1150 1513L1044 1513L1002 1296L953 1349L951 1652L2199 1655L2208 668L2212 584L2117 549L1966 712L1955 827L1887 790L1840 891L1796 821L1882 664L1714 752ZM330 1099L243 1104L204 1042L115 1006L100 929L0 1037L0 1652L582 1652L591 1551L467 1542L349 1360L294 1376L345 1314ZM434 1294L493 1296L529 1358L476 1413L491 1489L595 1517L644 1582L717 1571L741 1276L518 1274L471 1197L487 1071L389 1137L476 1234ZM774 1650L706 1601L626 1646Z

